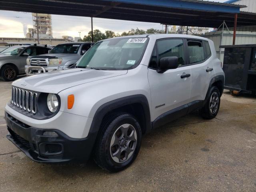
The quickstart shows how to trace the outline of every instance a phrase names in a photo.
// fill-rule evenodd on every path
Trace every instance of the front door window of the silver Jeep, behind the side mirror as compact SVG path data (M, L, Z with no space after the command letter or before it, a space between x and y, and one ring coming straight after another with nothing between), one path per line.
M164 39L157 41L158 61L163 57L178 57L178 65L185 65L184 46L182 39Z

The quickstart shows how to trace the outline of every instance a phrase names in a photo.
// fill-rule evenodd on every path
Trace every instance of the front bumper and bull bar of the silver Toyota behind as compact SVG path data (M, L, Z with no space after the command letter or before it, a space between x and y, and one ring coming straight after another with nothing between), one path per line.
M40 73L55 71L55 70L62 70L63 66L25 66L25 72L27 76L36 75ZM40 73L38 72L40 71Z

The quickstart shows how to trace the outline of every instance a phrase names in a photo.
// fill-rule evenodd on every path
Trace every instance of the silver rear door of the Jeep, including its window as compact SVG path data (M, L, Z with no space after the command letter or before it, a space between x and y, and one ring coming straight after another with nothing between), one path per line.
M187 40L188 64L191 68L190 102L204 100L214 77L212 54L208 41Z

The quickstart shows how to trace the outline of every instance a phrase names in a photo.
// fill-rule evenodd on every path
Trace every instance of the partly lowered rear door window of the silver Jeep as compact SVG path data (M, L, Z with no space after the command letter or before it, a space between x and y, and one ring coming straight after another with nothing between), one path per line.
M199 63L204 61L204 47L202 42L188 41L188 56L189 64Z

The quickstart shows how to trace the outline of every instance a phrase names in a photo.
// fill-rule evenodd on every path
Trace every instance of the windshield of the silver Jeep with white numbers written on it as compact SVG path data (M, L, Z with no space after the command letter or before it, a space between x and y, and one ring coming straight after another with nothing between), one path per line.
M77 62L78 68L126 70L140 62L148 38L114 38L97 42Z

